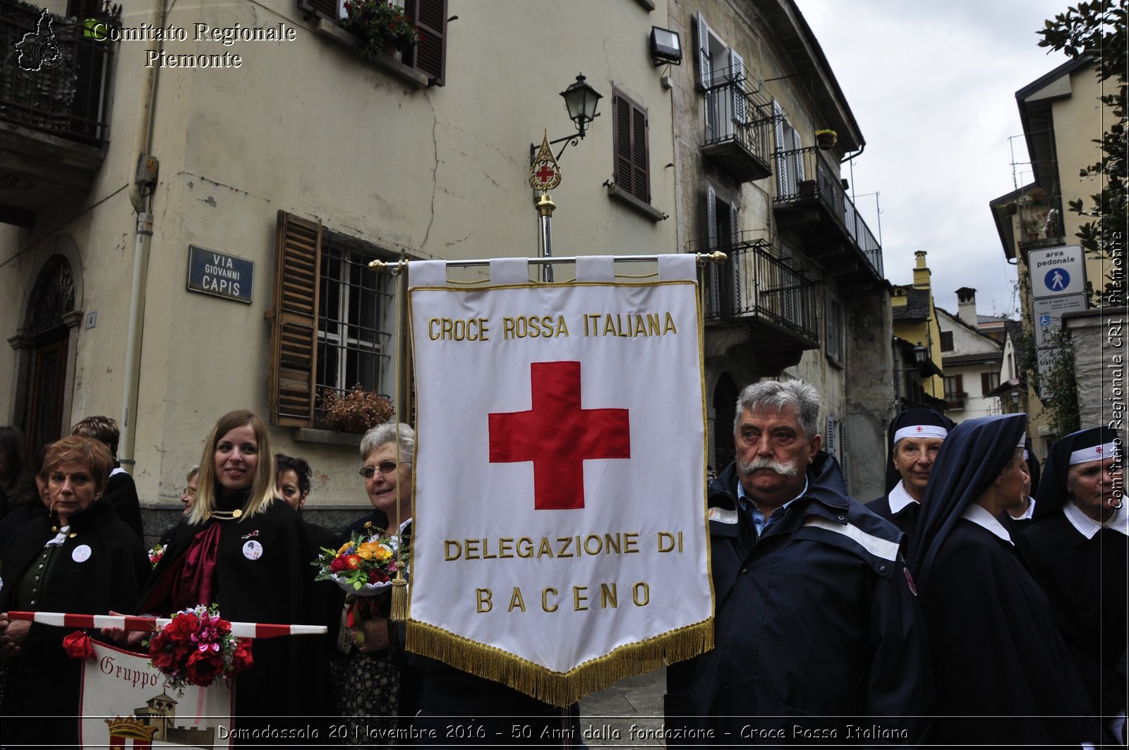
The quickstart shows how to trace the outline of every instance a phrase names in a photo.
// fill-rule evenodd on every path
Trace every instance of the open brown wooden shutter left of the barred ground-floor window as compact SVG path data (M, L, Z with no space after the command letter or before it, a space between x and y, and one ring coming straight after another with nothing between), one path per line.
M317 399L322 223L279 211L271 330L271 424L312 427Z

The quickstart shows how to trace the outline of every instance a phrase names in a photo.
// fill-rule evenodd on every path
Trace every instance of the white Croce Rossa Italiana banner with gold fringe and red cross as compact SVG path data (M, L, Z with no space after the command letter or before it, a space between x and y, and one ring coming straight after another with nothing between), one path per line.
M712 646L694 256L409 267L408 649L555 705Z

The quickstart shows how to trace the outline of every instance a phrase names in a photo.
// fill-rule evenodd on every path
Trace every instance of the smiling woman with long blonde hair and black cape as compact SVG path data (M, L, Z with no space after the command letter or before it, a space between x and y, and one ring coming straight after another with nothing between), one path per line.
M297 511L274 491L274 451L250 411L220 417L208 436L196 500L141 595L139 612L218 604L227 620L308 623L312 543ZM306 636L307 638L309 636ZM254 666L236 680L235 713L277 718L329 713L327 668L301 637L259 639Z

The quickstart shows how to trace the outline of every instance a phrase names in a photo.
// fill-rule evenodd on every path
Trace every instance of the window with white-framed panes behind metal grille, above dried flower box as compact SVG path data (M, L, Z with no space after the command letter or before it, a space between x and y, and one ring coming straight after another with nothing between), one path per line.
M352 246L350 246L352 245ZM347 391L361 385L385 393L391 364L390 278L374 273L374 250L324 233L317 309L317 387Z

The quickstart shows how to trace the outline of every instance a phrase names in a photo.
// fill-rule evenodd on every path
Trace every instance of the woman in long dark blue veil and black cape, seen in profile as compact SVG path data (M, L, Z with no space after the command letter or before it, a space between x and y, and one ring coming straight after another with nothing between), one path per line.
M911 570L936 677L927 742L1078 747L1096 720L1050 604L999 515L1019 505L1026 415L948 434L926 489Z

